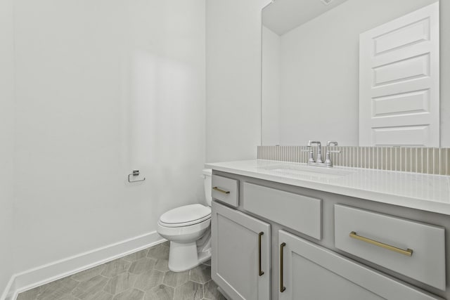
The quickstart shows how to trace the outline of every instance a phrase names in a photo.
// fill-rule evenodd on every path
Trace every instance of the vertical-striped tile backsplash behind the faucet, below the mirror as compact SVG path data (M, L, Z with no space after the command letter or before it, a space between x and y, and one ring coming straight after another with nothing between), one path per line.
M316 157L317 147L312 147ZM322 147L325 160L327 147ZM450 175L450 148L330 147L335 166ZM258 146L258 159L308 162L307 146Z

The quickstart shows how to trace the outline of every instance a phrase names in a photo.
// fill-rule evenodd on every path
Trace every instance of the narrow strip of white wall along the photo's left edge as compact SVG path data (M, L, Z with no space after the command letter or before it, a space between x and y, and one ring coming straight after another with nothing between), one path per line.
M0 0L0 298L13 275L13 1Z

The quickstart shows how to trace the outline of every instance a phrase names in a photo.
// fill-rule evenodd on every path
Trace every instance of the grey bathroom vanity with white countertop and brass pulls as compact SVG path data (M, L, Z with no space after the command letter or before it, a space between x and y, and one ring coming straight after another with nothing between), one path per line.
M450 299L449 176L207 167L212 278L231 299Z

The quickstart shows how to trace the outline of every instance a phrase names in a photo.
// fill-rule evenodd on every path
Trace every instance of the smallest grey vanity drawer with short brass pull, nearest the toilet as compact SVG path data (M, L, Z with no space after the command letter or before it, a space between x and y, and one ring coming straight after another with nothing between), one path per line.
M212 175L212 197L232 207L239 205L239 181L224 176Z

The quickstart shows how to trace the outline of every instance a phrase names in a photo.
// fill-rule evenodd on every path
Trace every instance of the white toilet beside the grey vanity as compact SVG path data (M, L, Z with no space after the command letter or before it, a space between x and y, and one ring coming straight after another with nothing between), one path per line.
M211 169L203 170L207 207L176 207L158 221L158 233L170 241L169 269L174 272L189 270L211 258L211 175Z

